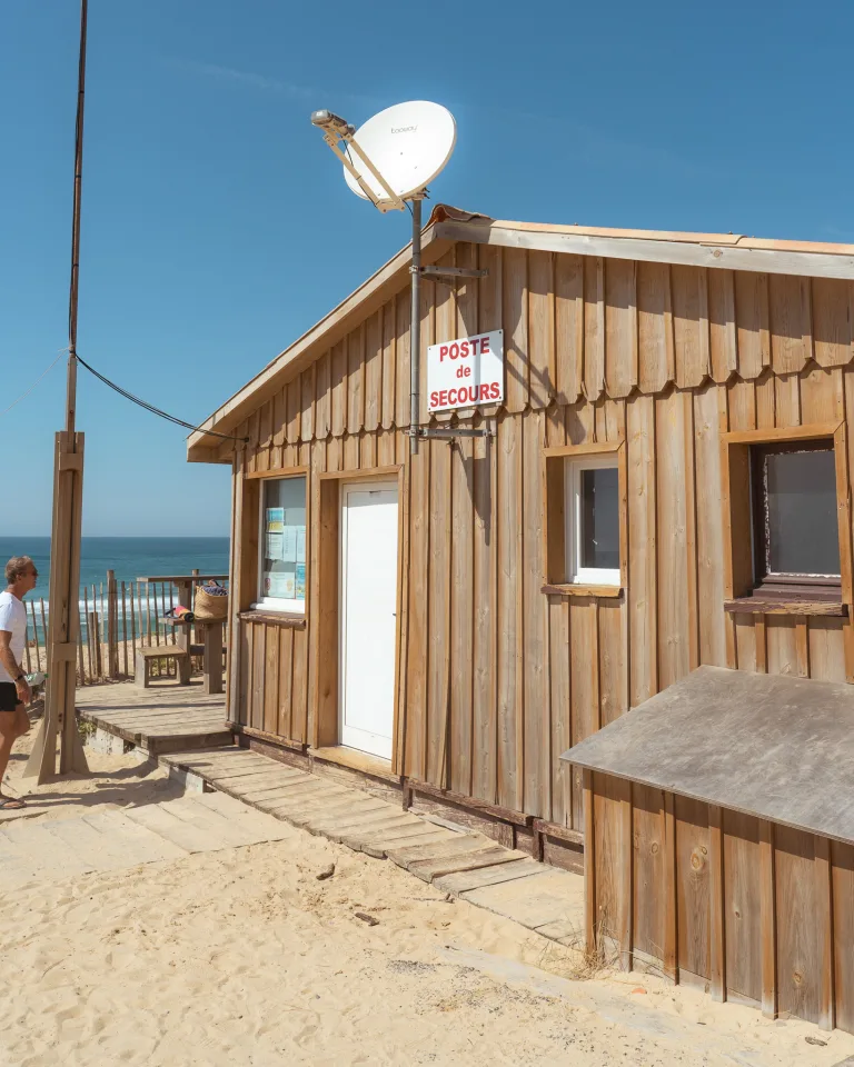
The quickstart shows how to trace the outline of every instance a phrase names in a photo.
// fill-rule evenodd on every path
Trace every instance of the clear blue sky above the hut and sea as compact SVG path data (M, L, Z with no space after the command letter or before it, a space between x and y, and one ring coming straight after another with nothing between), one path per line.
M199 420L406 243L308 116L446 104L434 199L854 241L850 2L90 0L79 351ZM67 343L78 4L7 4L0 410ZM0 418L0 534L50 530L64 370ZM225 534L228 468L81 370L85 532Z

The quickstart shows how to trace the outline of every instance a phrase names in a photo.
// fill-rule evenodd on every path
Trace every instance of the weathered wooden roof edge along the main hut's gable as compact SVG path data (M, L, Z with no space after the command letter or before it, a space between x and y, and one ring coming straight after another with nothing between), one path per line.
M425 265L435 263L458 241L606 259L854 279L854 245L764 240L737 233L514 222L438 205L424 231ZM271 391L309 366L331 343L399 291L406 285L410 261L411 245L407 245L230 397L190 436L188 459L200 462L212 459L218 439L206 431L232 432Z

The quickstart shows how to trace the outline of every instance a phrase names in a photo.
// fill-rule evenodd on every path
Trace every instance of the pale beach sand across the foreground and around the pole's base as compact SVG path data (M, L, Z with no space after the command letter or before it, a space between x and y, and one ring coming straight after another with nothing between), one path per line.
M179 792L133 755L90 762L91 776L31 797L44 818ZM3 1067L824 1067L854 1055L847 1034L771 1023L656 978L568 981L578 954L297 829L31 886L0 899L0 944Z

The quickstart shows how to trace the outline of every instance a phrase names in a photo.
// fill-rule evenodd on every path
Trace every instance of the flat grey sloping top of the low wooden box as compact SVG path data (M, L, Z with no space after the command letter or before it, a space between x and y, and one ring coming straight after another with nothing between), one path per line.
M701 667L562 758L854 841L854 688L845 684Z

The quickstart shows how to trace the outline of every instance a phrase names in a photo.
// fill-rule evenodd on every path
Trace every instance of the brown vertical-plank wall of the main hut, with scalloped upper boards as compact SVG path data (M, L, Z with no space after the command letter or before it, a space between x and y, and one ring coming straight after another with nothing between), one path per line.
M240 428L236 530L258 472L309 469L311 511L320 472L405 465L396 769L582 830L558 756L699 664L851 677L846 620L724 612L721 435L852 418L853 283L463 243L444 262L489 275L425 283L423 350L504 329L506 400L476 419L497 416L497 438L410 462L401 291ZM547 596L542 451L620 439L626 591ZM307 628L244 624L231 665L234 717L296 744L322 671L309 525Z

